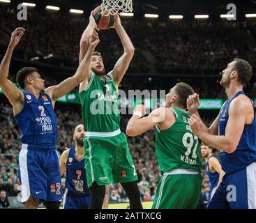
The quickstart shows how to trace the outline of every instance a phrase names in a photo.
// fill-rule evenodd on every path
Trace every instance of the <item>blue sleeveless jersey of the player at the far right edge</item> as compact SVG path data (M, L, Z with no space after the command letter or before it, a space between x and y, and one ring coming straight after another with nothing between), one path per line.
M218 135L225 135L225 129L229 118L229 105L239 95L246 95L243 91L239 91L231 100L228 100L220 111L218 121ZM244 125L243 134L234 153L225 153L220 151L220 160L223 170L226 174L232 174L253 162L256 162L256 118L253 123Z

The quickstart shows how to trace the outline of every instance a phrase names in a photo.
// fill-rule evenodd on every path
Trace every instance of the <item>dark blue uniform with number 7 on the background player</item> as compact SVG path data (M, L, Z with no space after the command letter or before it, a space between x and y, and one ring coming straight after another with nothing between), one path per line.
M75 147L70 148L66 163L66 192L64 194L64 209L88 209L90 194L86 181L84 159L75 159Z

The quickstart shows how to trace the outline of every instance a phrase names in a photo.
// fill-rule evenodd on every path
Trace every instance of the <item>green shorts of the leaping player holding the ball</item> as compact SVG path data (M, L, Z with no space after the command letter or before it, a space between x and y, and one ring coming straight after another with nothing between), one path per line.
M123 132L114 137L84 137L84 158L88 187L128 183L137 180L133 158Z

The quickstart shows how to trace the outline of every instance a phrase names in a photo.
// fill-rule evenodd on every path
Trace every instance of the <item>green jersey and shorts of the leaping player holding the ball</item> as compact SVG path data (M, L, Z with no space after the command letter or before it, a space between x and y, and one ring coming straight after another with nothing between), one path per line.
M127 183L137 180L126 134L120 131L119 94L112 74L103 79L93 73L80 94L84 157L88 186Z

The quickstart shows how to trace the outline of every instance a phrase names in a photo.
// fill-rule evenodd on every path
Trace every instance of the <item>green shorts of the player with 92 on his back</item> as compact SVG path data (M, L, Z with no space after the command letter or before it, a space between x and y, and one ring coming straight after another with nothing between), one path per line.
M152 209L195 209L201 194L201 174L164 174Z

